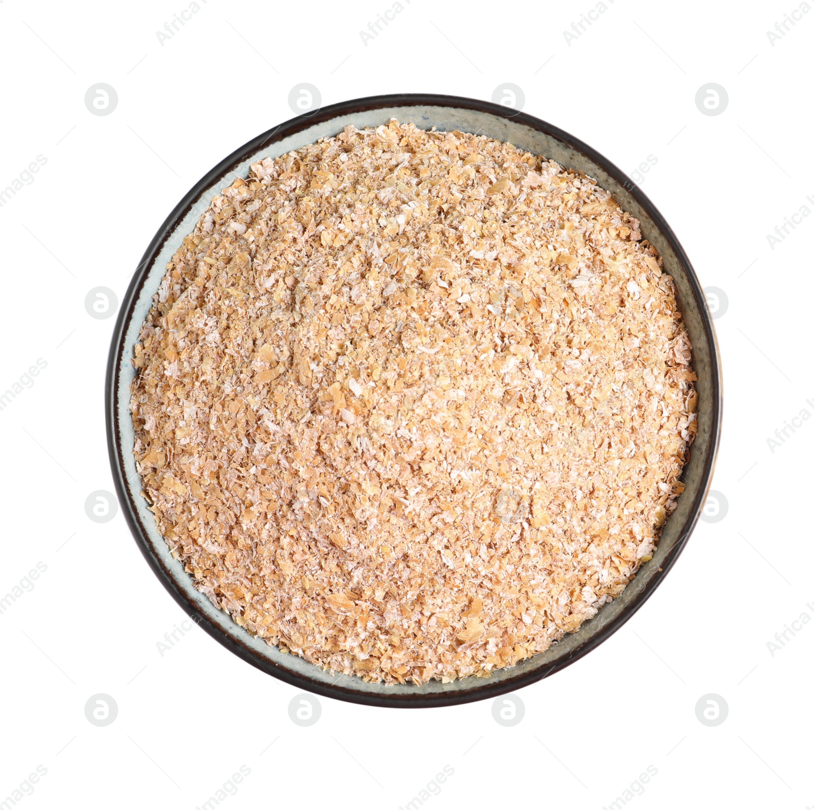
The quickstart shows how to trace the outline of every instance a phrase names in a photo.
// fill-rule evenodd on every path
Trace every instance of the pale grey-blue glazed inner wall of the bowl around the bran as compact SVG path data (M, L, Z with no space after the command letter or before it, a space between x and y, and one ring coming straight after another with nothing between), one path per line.
M339 134L349 124L355 125L358 129L363 129L387 124L391 118L396 118L401 123L412 122L422 129L431 129L432 127L439 130L458 129L462 132L483 134L490 138L497 138L499 141L511 142L515 147L530 151L536 155L553 158L562 166L569 169L579 169L589 177L593 177L600 186L610 190L624 210L641 221L642 235L654 244L663 257L665 270L675 279L679 305L684 313L685 324L693 342L693 367L696 374L698 374L698 383L696 383L698 390L698 436L683 475L686 491L678 499L675 512L670 515L664 525L661 540L653 559L641 567L637 576L633 578L619 598L602 606L597 615L585 622L575 633L567 635L562 641L558 641L544 653L517 663L514 667L497 670L486 679L472 676L449 684L430 681L420 686L365 683L357 676L331 675L330 672L323 671L322 668L306 662L297 655L281 653L276 646L269 646L265 641L248 633L244 628L235 624L225 611L221 611L212 605L212 602L203 593L199 593L195 589L192 578L184 571L183 564L170 554L168 545L155 526L155 519L147 506L147 501L142 496L142 484L133 458L133 421L129 410L130 386L134 377L131 363L133 346L138 342L139 331L142 323L147 318L147 313L151 309L152 296L158 290L161 278L164 276L165 265L170 261L177 249L181 247L184 237L195 229L195 225L208 207L210 200L219 194L221 189L230 186L237 177L246 177L249 165L256 162L256 160L265 157L278 157L288 151L313 143L319 138ZM637 200L628 190L607 175L600 166L594 164L592 160L589 160L580 152L567 147L563 142L518 122L493 116L486 112L455 107L387 107L337 116L256 151L255 154L243 160L235 169L226 173L221 180L213 183L199 196L190 211L178 223L164 243L159 255L153 261L146 282L142 286L141 294L133 309L132 317L130 317L126 325L125 340L120 357L120 374L117 380L117 415L127 485L133 502L137 506L138 517L142 525L147 528L148 538L155 555L160 558L164 567L171 573L178 587L186 594L186 598L190 602L194 602L199 611L208 616L212 624L221 628L226 635L247 646L259 658L268 659L281 668L299 673L325 685L339 685L357 692L373 694L452 693L469 690L475 686L483 687L484 681L488 683L505 681L521 673L551 667L553 664L562 661L562 659L567 659L570 655L573 655L591 637L601 633L603 628L606 628L608 624L623 615L631 602L638 597L643 589L646 589L656 571L664 563L667 554L692 528L694 524L694 502L697 501L698 493L705 494L708 487L707 479L709 476L705 474L704 462L709 454L714 452L715 446L715 437L712 436L712 420L715 408L712 400L714 389L712 374L714 373L715 364L711 362L711 357L715 356L716 347L711 345L707 339L707 332L703 323L704 317L705 314L698 308L696 303L685 267L672 251L667 239L637 203Z

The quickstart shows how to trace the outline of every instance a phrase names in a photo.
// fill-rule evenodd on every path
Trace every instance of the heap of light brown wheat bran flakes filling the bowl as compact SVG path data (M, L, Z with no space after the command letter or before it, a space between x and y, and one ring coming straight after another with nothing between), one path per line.
M697 428L672 278L610 193L396 120L222 190L133 362L173 556L365 680L487 676L580 627L650 559Z

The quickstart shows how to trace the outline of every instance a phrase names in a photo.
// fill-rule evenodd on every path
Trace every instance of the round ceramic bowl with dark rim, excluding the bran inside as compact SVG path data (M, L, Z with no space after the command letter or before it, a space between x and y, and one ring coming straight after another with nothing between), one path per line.
M186 234L195 228L212 197L236 177L245 177L256 160L277 157L318 138L339 134L348 124L359 129L376 127L393 117L422 129L457 129L511 142L519 149L584 172L610 190L622 208L641 221L642 236L654 244L663 257L665 271L675 279L678 304L693 343L693 368L698 375L698 435L681 475L685 492L663 526L653 558L641 566L618 598L545 652L488 677L468 676L446 684L429 681L422 685L386 685L366 683L354 675L332 675L252 636L199 593L183 564L170 554L142 495L133 459L134 432L129 410L133 346L164 275L164 266ZM689 259L650 199L610 160L562 129L508 107L446 95L395 94L322 107L269 129L222 160L190 189L147 247L122 301L107 364L105 405L110 461L122 512L155 576L200 627L247 663L301 690L373 706L449 706L518 690L567 667L615 633L667 576L698 521L715 466L721 419L720 361L711 317Z

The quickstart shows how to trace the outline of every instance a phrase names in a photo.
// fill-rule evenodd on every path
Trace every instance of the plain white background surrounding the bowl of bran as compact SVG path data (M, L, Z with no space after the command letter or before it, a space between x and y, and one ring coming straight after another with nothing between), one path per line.
M814 217L773 249L767 240L814 195L814 11L772 45L766 32L794 0L606 0L568 45L562 31L590 0L403 0L365 45L359 32L387 0L199 2L163 46L155 32L182 0L0 2L0 189L47 159L0 208L0 391L47 362L0 411L0 595L47 566L0 614L0 801L42 765L24 810L192 810L246 765L225 810L396 810L449 765L422 808L601 810L653 765L634 810L814 804L814 623L775 655L767 646L803 611L814 617L814 422L774 453L767 444L801 409L814 413ZM89 317L86 293L110 287L121 300L186 190L290 118L289 90L304 81L323 104L396 91L491 99L499 83L519 85L526 112L628 173L657 158L644 190L702 286L729 299L716 319L725 413L713 481L728 513L699 523L619 633L523 690L512 728L488 702L410 711L325 698L317 724L300 728L287 713L297 690L199 628L162 657L156 642L182 611L121 514L85 516L88 494L113 488L103 380L114 321ZM85 108L97 82L117 91L109 116ZM729 93L719 116L695 105L707 82ZM104 728L85 719L96 693L118 705ZM707 693L729 705L715 728L695 715Z

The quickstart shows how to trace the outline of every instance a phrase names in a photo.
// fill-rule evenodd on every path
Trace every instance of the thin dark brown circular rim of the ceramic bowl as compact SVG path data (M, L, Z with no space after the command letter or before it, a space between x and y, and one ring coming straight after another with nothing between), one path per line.
M540 681L542 678L553 675L566 668L569 664L587 655L595 647L606 641L613 633L615 633L622 625L628 621L631 616L647 601L648 598L654 593L654 590L661 584L663 578L667 576L676 559L681 554L689 536L692 533L695 524L701 514L704 501L707 496L707 489L711 483L712 473L714 471L716 455L718 452L718 444L720 441L720 423L721 423L721 410L722 410L722 384L720 379L720 359L718 357L718 344L716 340L715 330L712 326L711 318L706 316L703 318L704 329L707 333L707 340L711 347L710 352L710 365L711 365L711 378L712 378L712 391L711 391L711 430L709 448L707 451L707 458L703 467L703 485L698 488L695 494L695 501L692 504L685 523L681 528L679 539L673 545L672 549L664 559L659 571L651 576L650 581L646 587L637 594L635 598L626 606L614 620L611 620L601 630L589 637L571 652L567 658L558 660L551 664L549 667L541 667L534 669L530 672L519 673L515 677L505 678L501 681L490 682L488 678L473 678L473 685L466 690L456 690L453 692L437 692L430 694L416 694L415 696L409 694L376 694L363 690L354 690L339 685L330 685L315 681L308 676L298 672L291 672L286 668L282 668L274 662L260 658L251 649L243 645L238 639L231 637L224 630L213 624L208 616L194 602L186 597L186 594L177 584L173 575L160 558L155 554L152 549L151 543L147 536L146 529L138 519L138 511L132 498L130 497L129 488L126 486L124 458L119 441L119 423L118 423L118 378L120 374L120 357L124 348L125 335L127 326L133 313L133 307L138 300L138 295L141 291L142 285L147 278L147 274L158 256L161 247L164 245L168 236L173 233L176 226L195 201L199 199L210 186L214 185L219 178L224 177L225 174L230 173L236 166L246 160L249 155L253 155L256 151L260 150L266 144L277 142L282 138L287 138L289 135L296 134L302 129L307 129L314 124L321 123L322 121L330 120L337 116L348 115L352 113L365 112L368 110L387 108L387 107L457 107L458 109L474 110L477 112L490 113L492 116L505 118L506 120L515 123L526 125L532 129L539 130L540 132L556 138L558 141L564 143L574 151L581 152L583 155L592 160L594 164L601 167L610 177L613 177L620 186L624 186L626 190L636 199L641 208L647 212L654 225L659 229L663 238L667 241L672 251L675 253L677 260L685 269L685 273L689 280L689 285L692 289L695 304L698 306L699 312L707 313L706 300L701 288L698 278L695 274L693 266L689 262L684 248L681 247L676 234L667 225L664 217L659 210L655 208L650 199L641 191L641 189L632 182L632 180L622 172L615 164L604 155L601 155L586 143L574 138L573 135L563 132L554 125L551 125L539 118L527 115L524 112L514 112L506 107L501 107L498 104L480 101L479 99L464 99L457 96L442 95L442 94L425 94L425 93L400 93L392 95L379 95L369 96L365 99L352 99L338 104L332 104L330 107L322 107L317 112L309 113L304 116L298 116L287 120L284 124L269 129L267 132L252 138L251 141L243 144L242 147L232 152L225 160L221 160L217 166L211 171L201 177L199 182L195 184L182 198L181 202L173 209L173 212L164 220L159 230L151 240L147 247L147 251L142 256L142 261L138 265L130 281L128 290L125 294L124 300L119 310L118 317L116 318L116 326L113 331L110 354L107 360L107 378L105 380L105 418L107 427L107 449L110 457L112 468L113 480L116 486L116 494L119 498L122 512L125 515L130 531L141 549L142 554L147 559L155 576L158 577L164 588L175 599L175 601L182 607L183 611L190 616L196 624L212 636L216 641L219 641L227 650L230 650L234 655L239 656L252 666L284 681L287 684L297 687L298 689L313 694L322 695L326 698L335 698L338 700L345 700L350 703L361 703L366 706L383 706L383 707L433 707L433 706L453 706L461 703L471 703L477 700L485 700L487 698L494 698L500 694L506 694L518 690L523 686Z

